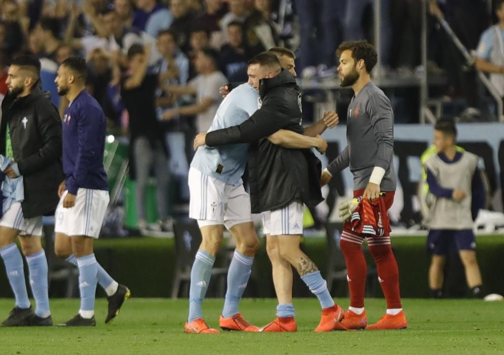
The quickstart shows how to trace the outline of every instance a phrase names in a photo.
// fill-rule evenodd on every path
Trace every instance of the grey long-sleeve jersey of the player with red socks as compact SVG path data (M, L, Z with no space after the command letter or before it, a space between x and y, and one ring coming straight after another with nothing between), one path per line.
M395 191L394 114L390 100L375 83L352 98L347 112L347 147L327 169L335 174L350 166L354 190L365 189L375 166L385 169L382 191Z

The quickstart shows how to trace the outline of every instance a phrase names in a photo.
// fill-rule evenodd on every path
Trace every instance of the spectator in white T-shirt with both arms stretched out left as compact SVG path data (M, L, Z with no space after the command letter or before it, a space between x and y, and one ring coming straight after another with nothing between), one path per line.
M219 71L219 55L211 48L200 50L196 56L196 70L198 75L186 86L164 86L163 90L172 94L195 94L196 103L180 108L166 110L164 120L173 117L196 115L196 129L206 132L210 128L222 97L219 88L227 84L226 77Z

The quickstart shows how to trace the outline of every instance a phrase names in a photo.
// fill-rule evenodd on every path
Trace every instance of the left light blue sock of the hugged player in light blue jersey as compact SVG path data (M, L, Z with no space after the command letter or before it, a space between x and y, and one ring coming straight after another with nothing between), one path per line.
M198 250L194 264L191 269L191 287L189 289L189 318L187 321L193 322L194 319L203 317L201 315L201 303L207 293L212 266L214 266L215 257L211 254Z

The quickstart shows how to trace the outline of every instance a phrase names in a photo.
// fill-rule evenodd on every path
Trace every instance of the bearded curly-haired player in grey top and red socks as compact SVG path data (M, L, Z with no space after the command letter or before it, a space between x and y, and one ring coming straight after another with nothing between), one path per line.
M372 81L369 73L377 62L374 47L366 41L343 42L337 50L341 86L350 86L354 97L348 108L348 146L322 172L321 185L332 175L350 167L354 197L375 201L384 199L385 208L392 205L396 188L393 165L393 112L390 100ZM382 196L381 196L382 195ZM382 228L381 218L376 228ZM367 326L364 310L366 261L362 241L367 238L369 251L378 268L380 285L387 300L387 311L378 323ZM399 295L399 271L390 245L390 236L357 233L352 224L343 227L340 247L347 265L350 307L342 324L350 329L400 329L408 323Z

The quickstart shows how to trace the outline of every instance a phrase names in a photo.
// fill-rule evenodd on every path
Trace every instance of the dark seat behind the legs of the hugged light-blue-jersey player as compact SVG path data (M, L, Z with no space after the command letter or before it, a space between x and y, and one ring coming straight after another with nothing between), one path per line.
M201 232L196 221L189 220L184 222L176 222L173 225L175 234L175 250L177 261L175 263L175 272L172 285L172 299L177 299L180 289L184 286L184 297L189 295L189 282L191 279L191 268L194 262L194 257L201 244ZM229 265L227 263L227 265ZM224 297L226 291L226 267L212 268L211 283L217 285L217 297ZM184 285L182 285L184 283Z

